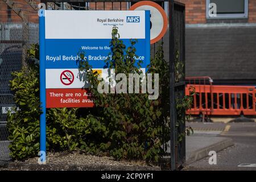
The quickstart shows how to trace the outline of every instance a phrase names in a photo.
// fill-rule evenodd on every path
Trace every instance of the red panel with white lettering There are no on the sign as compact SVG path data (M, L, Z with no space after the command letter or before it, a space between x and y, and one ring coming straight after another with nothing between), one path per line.
M93 107L88 89L46 89L46 107Z

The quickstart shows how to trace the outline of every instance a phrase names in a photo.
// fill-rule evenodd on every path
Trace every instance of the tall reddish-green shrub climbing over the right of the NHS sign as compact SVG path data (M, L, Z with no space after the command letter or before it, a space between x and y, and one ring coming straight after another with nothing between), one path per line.
M118 30L113 28L110 48L112 60L106 60L109 68L115 69L115 75L125 73L142 73L141 61L135 63L135 43L130 40L127 47L118 39ZM170 138L170 129L167 125L169 113L168 102L168 64L163 59L163 45L160 44L155 58L151 60L148 73L160 73L160 97L158 100L148 100L148 94L125 93L98 93L97 72L92 71L86 59L79 61L81 74L86 71L90 81L90 92L93 93L94 104L101 108L100 115L105 119L109 130L108 143L110 155L115 159L142 159L158 161L163 154L161 147L167 138ZM79 53L84 58L84 53ZM118 83L118 81L117 81ZM109 88L110 89L110 88Z

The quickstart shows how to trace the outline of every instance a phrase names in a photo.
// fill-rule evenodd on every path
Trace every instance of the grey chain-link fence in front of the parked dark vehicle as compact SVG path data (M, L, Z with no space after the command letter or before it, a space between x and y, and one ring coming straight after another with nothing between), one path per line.
M38 28L36 23L0 23L0 165L10 160L6 122L7 111L15 106L9 86L11 72L26 64L28 47L39 41Z

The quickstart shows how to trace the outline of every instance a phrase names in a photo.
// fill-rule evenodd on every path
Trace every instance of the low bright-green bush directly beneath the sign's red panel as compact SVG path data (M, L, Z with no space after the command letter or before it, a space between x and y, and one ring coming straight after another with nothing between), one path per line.
M47 113L47 143L53 151L81 150L99 154L106 127L100 117L77 117L77 108L50 109ZM102 148L103 151L103 148Z

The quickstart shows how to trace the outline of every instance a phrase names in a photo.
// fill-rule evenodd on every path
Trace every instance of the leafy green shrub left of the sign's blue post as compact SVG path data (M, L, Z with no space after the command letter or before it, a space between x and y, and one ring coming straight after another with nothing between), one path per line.
M10 150L13 159L36 155L39 151L39 77L38 69L22 68L13 73L10 81L16 106L7 122Z

